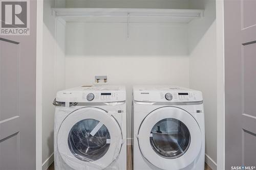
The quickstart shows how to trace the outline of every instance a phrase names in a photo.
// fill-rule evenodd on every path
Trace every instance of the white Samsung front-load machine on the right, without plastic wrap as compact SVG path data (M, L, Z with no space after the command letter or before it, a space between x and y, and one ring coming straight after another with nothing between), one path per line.
M135 170L203 170L202 92L178 86L134 86Z

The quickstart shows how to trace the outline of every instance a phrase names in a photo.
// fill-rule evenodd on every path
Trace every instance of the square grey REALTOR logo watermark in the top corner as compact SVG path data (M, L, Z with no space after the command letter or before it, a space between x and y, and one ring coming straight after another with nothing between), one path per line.
M0 0L0 35L29 35L29 0Z

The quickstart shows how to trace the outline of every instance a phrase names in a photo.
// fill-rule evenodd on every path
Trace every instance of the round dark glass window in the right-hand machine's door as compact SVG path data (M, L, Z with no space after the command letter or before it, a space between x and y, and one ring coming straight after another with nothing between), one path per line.
M187 151L190 144L190 133L180 120L164 118L152 128L150 143L159 156L175 159Z

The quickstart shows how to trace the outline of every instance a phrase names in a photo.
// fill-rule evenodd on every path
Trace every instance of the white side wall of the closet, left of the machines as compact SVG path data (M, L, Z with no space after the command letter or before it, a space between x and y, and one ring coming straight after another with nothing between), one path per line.
M51 7L55 1L44 1L42 44L42 169L53 161L54 106L58 90L65 89L65 27L55 23ZM58 30L56 31L55 28ZM57 38L55 38L57 37ZM58 41L56 41L58 40Z

